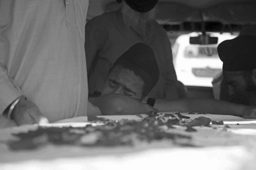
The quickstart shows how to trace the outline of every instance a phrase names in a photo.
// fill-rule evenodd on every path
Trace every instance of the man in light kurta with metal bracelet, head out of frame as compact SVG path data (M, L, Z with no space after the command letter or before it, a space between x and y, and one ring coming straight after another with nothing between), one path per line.
M88 3L0 0L1 115L17 124L86 115Z

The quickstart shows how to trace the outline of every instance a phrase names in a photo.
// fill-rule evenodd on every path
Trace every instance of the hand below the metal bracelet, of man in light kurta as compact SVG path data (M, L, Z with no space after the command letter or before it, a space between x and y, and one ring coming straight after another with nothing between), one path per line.
M48 119L42 115L37 105L26 99L20 99L12 114L18 126L22 124L48 123Z

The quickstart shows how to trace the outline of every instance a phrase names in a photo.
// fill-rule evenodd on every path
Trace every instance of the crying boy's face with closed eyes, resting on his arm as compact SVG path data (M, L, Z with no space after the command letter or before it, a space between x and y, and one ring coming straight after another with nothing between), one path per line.
M102 95L123 94L134 99L143 99L143 80L132 71L116 66L110 72L102 90Z

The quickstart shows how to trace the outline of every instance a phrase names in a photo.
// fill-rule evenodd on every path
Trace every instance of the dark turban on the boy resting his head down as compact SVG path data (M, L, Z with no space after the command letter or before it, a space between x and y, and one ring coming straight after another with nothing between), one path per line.
M121 65L134 71L144 81L144 93L147 95L157 84L159 68L151 47L144 43L134 44L113 65Z

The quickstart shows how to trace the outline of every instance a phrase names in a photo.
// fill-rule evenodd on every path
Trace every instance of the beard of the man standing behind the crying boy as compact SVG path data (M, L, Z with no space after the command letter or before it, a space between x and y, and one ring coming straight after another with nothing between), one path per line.
M129 5L123 3L121 12L126 25L136 29L136 31L139 31L143 36L147 35L147 32L150 29L149 22L155 17L155 8L151 11L142 13L133 10Z

